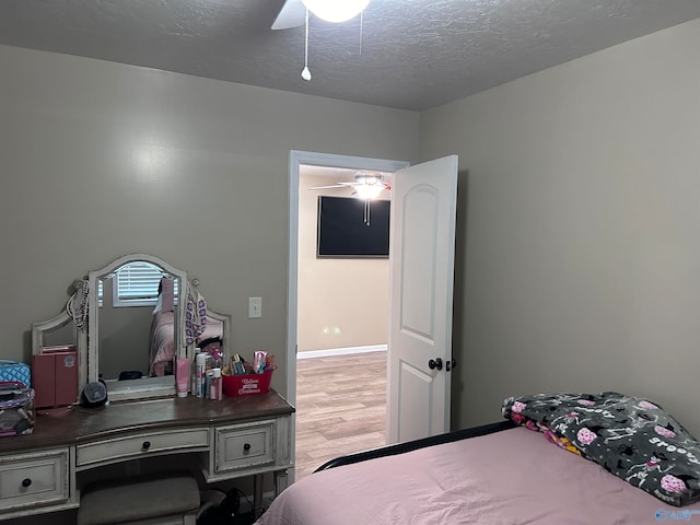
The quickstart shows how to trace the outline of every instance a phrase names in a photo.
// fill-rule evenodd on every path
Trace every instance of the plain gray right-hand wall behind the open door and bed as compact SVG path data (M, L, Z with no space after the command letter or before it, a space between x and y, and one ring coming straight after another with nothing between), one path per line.
M421 114L459 154L454 427L618 390L700 435L700 20Z

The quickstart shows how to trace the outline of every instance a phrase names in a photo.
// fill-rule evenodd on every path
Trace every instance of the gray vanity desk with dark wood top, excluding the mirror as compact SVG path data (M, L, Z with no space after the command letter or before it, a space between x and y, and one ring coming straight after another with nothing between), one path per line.
M188 396L73 406L39 415L34 432L0 440L0 521L80 506L85 478L101 467L155 456L180 463L191 454L203 480L275 477L275 495L292 467L291 415L273 390L221 401ZM40 411L39 411L40 412Z

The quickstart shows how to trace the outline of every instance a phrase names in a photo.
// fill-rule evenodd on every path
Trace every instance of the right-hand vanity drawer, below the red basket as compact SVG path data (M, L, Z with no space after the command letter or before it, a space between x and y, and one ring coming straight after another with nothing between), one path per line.
M276 421L273 419L217 428L215 472L275 463L275 438Z

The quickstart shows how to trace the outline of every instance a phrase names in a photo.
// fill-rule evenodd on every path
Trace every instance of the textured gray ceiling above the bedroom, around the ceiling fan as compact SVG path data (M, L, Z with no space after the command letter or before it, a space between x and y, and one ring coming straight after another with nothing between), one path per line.
M372 0L272 31L283 0L1 0L0 44L421 110L700 16L700 0Z

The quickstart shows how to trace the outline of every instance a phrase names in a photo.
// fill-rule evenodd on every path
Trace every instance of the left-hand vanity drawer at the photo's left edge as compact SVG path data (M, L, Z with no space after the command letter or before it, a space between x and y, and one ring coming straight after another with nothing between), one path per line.
M68 448L0 456L0 510L67 501L68 475Z

